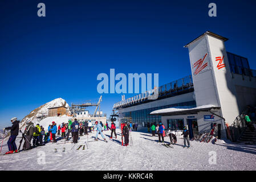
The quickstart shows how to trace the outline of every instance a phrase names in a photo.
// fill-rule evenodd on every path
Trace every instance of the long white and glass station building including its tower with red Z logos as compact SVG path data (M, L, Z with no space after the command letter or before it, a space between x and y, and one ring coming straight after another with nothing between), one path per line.
M155 101L147 100L145 93L141 94L144 100L118 102L113 107L119 109L120 121L140 126L162 122L173 130L187 126L190 138L217 123L226 137L226 127L247 105L256 105L256 71L245 57L226 52L226 40L207 31L187 44L192 71L189 81L185 77L164 85L165 89L161 86Z

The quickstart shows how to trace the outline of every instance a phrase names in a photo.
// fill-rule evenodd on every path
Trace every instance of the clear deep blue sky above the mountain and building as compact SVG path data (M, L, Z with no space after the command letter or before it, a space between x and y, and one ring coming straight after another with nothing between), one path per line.
M37 5L46 5L46 17ZM208 5L217 4L217 17ZM62 97L97 101L96 77L159 73L159 85L191 74L188 49L209 30L256 69L256 1L0 1L0 127ZM127 96L128 97L128 96ZM103 94L111 113L121 94Z

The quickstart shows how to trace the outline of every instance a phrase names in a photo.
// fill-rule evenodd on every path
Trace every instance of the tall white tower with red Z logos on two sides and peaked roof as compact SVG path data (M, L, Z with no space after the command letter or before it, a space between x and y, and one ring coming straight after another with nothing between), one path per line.
M189 49L197 106L221 107L216 114L231 125L239 110L227 59L226 40L228 39L207 31L185 47ZM224 125L224 119L222 124Z

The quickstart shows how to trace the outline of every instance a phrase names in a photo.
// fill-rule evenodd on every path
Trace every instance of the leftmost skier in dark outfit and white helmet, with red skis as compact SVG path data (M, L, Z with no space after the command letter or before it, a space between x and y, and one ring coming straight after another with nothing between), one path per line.
M13 154L18 152L17 146L15 144L15 139L19 134L19 121L17 118L14 117L14 118L11 118L11 123L13 123L12 126L6 127L3 129L3 132L5 132L5 130L11 130L11 136L7 142L9 151L6 152L5 154Z

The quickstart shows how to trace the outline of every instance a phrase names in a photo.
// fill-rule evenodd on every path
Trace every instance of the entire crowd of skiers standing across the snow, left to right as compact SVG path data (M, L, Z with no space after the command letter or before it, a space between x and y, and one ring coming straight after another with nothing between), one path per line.
M4 129L4 130L11 130L10 138L7 142L9 151L6 152L6 154L13 154L15 152L19 152L19 148L17 148L17 146L15 144L15 139L17 138L18 133L19 133L19 121L17 118L12 118L11 122L13 123L13 126L6 127ZM26 129L25 129L24 133L22 133L22 139L25 140L25 143L23 144L22 149L30 150L33 147L42 146L46 142L56 143L57 142L56 135L59 136L60 132L62 133L60 138L62 138L62 139L66 138L66 140L69 140L70 139L69 136L71 133L72 143L78 143L79 134L80 134L80 136L82 136L83 133L85 135L88 135L88 130L89 130L89 133L91 133L92 128L96 129L96 136L95 136L96 141L99 140L98 135L100 134L101 137L104 139L104 141L107 142L107 139L103 135L103 130L108 130L108 129L111 130L110 139L113 138L113 134L115 135L115 138L117 138L116 125L113 121L111 121L111 127L108 126L108 123L106 123L104 125L101 121L100 122L96 121L95 126L93 127L91 121L89 123L87 121L79 123L78 120L75 119L74 122L69 120L68 123L62 123L62 125L59 125L58 128L56 126L56 123L53 121L52 125L48 126L47 132L44 131L44 128L42 126L39 126L39 124L34 126L34 123L32 123L31 121L27 121ZM155 137L155 134L157 133L157 135L159 137L159 142L164 143L164 137L166 136L165 126L162 123L159 123L157 125L152 123L149 130L150 129L152 131L152 137ZM137 130L136 123L132 123L132 122L121 123L122 144L123 144L123 137L124 137L124 146L129 145L129 135L132 130ZM67 134L66 134L66 132L67 132ZM176 135L174 135L173 133L169 133L169 132L167 135L169 135L170 143L172 143L172 144L177 143ZM182 135L184 135L184 147L186 146L186 143L188 143L188 147L190 147L189 131L186 129L186 127L184 127L184 131L183 131ZM43 137L44 137L44 139L43 139ZM31 144L32 139L33 139L33 141ZM22 142L22 140L21 140L21 142ZM21 144L20 144L20 146L21 146Z

